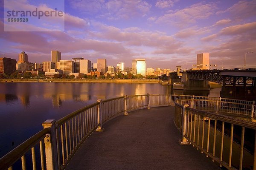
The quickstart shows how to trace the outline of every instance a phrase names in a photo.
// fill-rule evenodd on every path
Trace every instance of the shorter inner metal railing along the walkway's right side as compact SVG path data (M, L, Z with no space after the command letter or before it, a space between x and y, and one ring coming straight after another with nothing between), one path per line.
M244 121L241 119L235 119L230 116L220 115L217 113L210 113L206 111L200 111L195 108L205 108L209 106L210 108L215 102L212 100L202 100L198 103L192 105L192 100L177 99L175 102L175 125L182 133L180 143L181 144L192 144L197 149L201 150L202 153L205 153L207 157L212 158L212 161L217 161L220 166L224 166L229 170L239 169L242 170L243 167L243 155L244 155L244 132L245 128L254 130L254 157L250 159L251 164L249 167L253 167L253 170L256 169L256 124L250 121ZM227 100L225 101L227 102ZM232 101L233 102L233 101ZM203 105L200 107L200 104ZM241 105L241 103L239 103ZM243 103L243 106L248 105L246 102ZM191 108L194 107L194 108ZM218 104L217 104L218 108ZM237 111L236 109L232 110L231 107L227 108L229 112ZM209 109L211 110L211 109ZM218 125L221 124L221 130L217 130ZM234 141L234 126L236 129L241 129L241 139L239 142ZM225 127L230 127L229 134L224 134ZM221 138L216 139L216 134L220 134ZM217 142L216 142L217 141ZM240 150L236 155L239 155L239 159L233 158L232 153L234 149ZM240 149L239 149L240 148ZM226 157L224 157L226 153ZM233 162L239 164L234 165ZM248 162L248 160L247 160ZM246 165L248 166L248 165Z

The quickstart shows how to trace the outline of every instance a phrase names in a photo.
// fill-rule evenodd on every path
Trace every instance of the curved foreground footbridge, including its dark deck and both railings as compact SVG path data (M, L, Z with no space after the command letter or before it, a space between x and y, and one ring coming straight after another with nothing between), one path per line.
M220 165L256 170L255 107L251 101L184 95L98 100L58 121L45 121L43 130L0 159L0 169L219 169Z

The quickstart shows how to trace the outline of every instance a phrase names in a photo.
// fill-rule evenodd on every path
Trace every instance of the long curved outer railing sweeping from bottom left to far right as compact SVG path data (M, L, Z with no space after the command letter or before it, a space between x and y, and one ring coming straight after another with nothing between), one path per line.
M177 101L175 102L176 99ZM190 108L185 108L185 104L190 105ZM203 119L204 117L208 117L209 119L215 118L209 116L208 114L210 113L195 109L201 109L211 113L228 113L236 116L256 118L254 102L243 100L205 96L150 94L98 100L96 103L70 113L58 121L45 121L42 124L44 130L35 134L35 136L32 136L0 159L0 169L12 170L13 164L18 159L21 159L23 169L26 169L27 163L27 165L31 164L34 170L36 168L42 170L63 170L82 142L84 142L93 131L103 131L105 122L108 122L110 119L120 114L128 115L128 112L138 109L149 109L151 107L168 105L175 105L175 125L180 131L188 127L191 120L195 119L193 115L194 117L196 117L195 115L200 115L201 117L203 115ZM183 122L183 116L186 115L185 112L190 116L192 115L192 119L190 119L190 122L187 121L187 124ZM221 118L220 115L218 116ZM220 120L223 119L221 118ZM240 124L241 123L242 122L240 122ZM184 127L184 125L186 126ZM242 126L247 127L246 122ZM190 128L192 128L192 126ZM197 144L191 140L192 138L189 134L191 136L192 133L184 133L181 141L184 142L186 140L194 145ZM195 133L193 135L195 135ZM34 149L37 145L40 145L38 151ZM29 150L32 150L32 156L30 156L31 153L29 153ZM26 160L26 157L29 159L32 157L32 161L29 159ZM36 158L41 158L41 160L36 160Z

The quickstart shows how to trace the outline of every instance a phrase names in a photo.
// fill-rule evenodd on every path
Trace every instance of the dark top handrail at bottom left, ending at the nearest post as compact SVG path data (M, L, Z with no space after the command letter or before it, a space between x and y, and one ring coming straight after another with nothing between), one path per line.
M26 141L24 141L19 146L15 147L12 151L7 153L0 159L0 170L6 170L10 165L14 164L20 157L25 155L32 147L35 146L38 142L44 139L45 135L50 133L50 128L45 128L34 136L30 137Z

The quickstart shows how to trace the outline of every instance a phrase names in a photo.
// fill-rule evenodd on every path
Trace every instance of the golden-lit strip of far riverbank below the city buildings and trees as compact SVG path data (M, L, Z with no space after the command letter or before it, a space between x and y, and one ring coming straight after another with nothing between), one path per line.
M158 79L0 79L0 82L115 82L115 83L161 83Z

